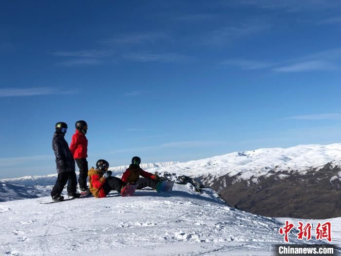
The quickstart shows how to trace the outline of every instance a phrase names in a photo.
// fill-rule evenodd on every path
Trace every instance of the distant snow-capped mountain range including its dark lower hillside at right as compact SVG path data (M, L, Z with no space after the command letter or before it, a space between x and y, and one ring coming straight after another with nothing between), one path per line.
M152 173L198 178L221 193L227 203L248 212L296 218L341 216L339 166L341 143L241 151L182 163L142 164ZM110 169L120 177L127 167ZM52 185L55 178L48 175L0 181L44 186Z

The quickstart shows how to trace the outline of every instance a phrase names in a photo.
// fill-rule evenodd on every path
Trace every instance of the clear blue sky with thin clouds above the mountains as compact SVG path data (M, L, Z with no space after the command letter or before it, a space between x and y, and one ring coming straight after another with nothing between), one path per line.
M1 1L0 178L341 141L341 3ZM77 170L77 168L76 168Z

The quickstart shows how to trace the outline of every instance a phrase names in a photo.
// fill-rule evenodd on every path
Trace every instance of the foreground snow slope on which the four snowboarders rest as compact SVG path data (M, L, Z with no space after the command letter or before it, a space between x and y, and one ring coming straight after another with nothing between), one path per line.
M180 190L141 190L133 197L112 192L54 204L39 203L50 197L2 202L0 254L266 256L283 243L276 220L189 194L186 186ZM289 239L303 243L294 234Z

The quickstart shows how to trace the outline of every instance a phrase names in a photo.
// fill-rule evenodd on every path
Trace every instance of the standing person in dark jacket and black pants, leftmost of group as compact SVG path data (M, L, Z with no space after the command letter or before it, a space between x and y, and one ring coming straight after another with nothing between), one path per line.
M75 172L75 159L64 138L68 125L64 122L57 122L55 128L56 132L53 134L52 149L56 155L58 178L56 185L51 191L51 197L53 201L64 200L64 197L60 194L63 191L66 182L68 182L68 197L70 199L77 198L80 195L76 193L77 177Z

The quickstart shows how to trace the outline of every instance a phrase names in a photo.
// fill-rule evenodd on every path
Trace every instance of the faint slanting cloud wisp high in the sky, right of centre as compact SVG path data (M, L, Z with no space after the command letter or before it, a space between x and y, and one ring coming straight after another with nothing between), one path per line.
M227 26L208 32L201 39L202 44L225 45L231 41L268 30L271 26L261 20L252 20L240 25Z

